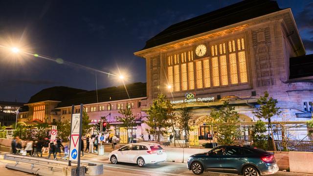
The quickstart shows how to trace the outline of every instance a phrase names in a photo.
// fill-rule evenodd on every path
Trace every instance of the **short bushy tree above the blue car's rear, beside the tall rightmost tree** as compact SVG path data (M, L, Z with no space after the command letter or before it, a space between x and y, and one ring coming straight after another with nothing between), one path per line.
M267 131L265 122L259 119L252 128L253 145L257 148L266 150L268 138L267 135L264 134Z

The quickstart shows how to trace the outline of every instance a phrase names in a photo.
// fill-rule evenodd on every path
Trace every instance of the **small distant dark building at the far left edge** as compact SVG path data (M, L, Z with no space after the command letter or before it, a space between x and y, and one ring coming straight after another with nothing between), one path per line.
M0 101L0 126L10 126L16 122L16 112L24 103Z

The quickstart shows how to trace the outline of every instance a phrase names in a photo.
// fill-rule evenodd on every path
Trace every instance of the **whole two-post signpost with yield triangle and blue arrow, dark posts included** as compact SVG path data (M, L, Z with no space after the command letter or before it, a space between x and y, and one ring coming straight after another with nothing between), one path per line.
M69 143L69 161L68 166L71 166L71 161L77 162L77 176L80 175L80 151L82 138L82 121L83 121L83 104L80 104L80 113L74 112L72 105L72 118L70 122L70 143Z

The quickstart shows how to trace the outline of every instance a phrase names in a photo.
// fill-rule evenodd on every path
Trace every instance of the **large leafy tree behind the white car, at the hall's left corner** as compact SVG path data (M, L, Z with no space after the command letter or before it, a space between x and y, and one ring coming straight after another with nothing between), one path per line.
M145 121L146 124L151 127L147 129L149 133L155 135L156 142L160 141L160 136L167 133L166 129L171 127L170 118L172 117L173 105L166 96L163 94L158 94L157 99L153 101L150 105L147 113L149 116Z

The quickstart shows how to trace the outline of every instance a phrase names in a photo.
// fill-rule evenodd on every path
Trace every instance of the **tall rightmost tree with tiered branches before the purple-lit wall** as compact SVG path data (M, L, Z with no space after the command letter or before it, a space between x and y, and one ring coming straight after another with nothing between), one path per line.
M260 105L260 108L257 111L254 111L253 113L259 119L264 118L265 120L268 120L268 139L269 139L270 129L271 132L273 133L270 118L274 115L279 115L281 111L279 110L279 108L276 107L277 100L273 99L272 97L269 97L268 91L265 91L264 96L261 96L257 102ZM272 139L272 141L273 140L274 139ZM274 141L273 146L275 146Z

